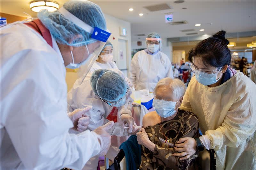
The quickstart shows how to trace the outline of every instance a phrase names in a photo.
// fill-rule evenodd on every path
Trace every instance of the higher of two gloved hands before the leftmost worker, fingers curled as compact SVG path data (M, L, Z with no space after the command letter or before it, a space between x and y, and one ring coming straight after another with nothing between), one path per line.
M71 121L74 124L74 127L72 129L75 129L80 132L87 129L87 126L89 124L89 117L86 116L85 113L91 109L92 109L92 106L88 106L83 109L76 109L73 112L68 113L68 117L71 119ZM81 121L80 121L80 119L81 119ZM87 122L88 122L88 124L87 124Z

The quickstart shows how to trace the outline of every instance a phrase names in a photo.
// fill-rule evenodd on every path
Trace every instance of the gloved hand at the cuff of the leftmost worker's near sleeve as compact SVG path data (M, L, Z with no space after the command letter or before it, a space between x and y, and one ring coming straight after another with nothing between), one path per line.
M107 132L108 129L112 128L114 125L113 121L110 121L103 126L98 127L97 129L93 130L98 135L98 140L100 142L100 153L99 156L104 156L107 154L108 149L111 144L111 136Z

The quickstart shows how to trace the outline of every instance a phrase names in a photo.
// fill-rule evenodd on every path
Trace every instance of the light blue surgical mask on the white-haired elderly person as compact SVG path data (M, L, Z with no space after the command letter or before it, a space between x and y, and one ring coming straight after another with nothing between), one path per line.
M156 110L156 113L163 118L170 117L177 112L175 109L176 103L173 101L165 101L165 100L158 100L154 98L153 100L153 107Z

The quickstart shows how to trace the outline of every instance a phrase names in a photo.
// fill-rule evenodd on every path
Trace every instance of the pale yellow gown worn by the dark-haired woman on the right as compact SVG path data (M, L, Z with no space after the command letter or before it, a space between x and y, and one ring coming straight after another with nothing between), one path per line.
M238 71L217 87L195 76L180 109L195 113L216 152L216 169L256 169L256 85Z

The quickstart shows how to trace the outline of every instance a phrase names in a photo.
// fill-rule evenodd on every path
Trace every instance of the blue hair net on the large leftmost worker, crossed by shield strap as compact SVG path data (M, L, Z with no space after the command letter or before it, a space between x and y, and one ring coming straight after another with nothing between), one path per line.
M98 5L90 1L69 1L63 7L89 26L106 30L106 21ZM42 10L37 17L60 44L84 46L97 41L91 38L91 33L75 25L59 11Z

